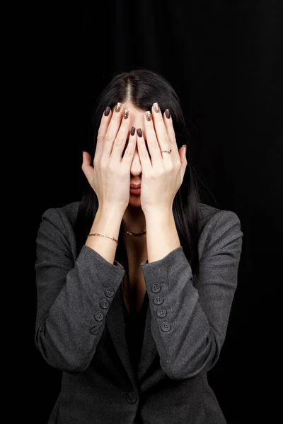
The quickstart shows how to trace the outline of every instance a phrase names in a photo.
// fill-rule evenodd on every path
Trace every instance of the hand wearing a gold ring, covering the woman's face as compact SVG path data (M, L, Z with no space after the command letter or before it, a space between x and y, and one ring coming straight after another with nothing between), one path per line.
M150 120L146 117L150 117ZM186 148L182 146L178 151L172 117L166 117L166 112L162 116L159 107L158 112L153 106L151 112L144 113L144 131L141 137L137 134L142 167L141 208L145 214L172 210L175 194L183 182L187 167ZM171 153L161 153L161 150L168 149L171 149Z

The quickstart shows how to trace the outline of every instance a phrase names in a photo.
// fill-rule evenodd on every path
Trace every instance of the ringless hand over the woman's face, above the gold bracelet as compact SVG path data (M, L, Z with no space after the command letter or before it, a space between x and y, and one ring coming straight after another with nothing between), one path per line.
M117 208L123 213L129 204L130 167L137 143L137 131L134 129L134 135L131 134L126 112L120 103L108 116L103 112L93 163L91 155L83 152L82 164L83 173L98 196L99 207Z

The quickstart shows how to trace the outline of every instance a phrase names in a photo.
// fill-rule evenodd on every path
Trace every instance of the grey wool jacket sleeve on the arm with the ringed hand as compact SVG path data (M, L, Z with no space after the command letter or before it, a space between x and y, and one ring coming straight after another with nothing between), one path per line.
M161 367L171 379L210 370L226 336L243 233L235 213L219 211L216 215L200 259L197 288L182 246L161 260L141 264L151 332Z

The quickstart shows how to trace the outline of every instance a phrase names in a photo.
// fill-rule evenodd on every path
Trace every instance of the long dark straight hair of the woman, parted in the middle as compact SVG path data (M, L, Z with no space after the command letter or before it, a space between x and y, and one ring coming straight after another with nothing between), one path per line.
M171 84L166 81L166 78L149 69L139 68L132 69L129 72L115 73L108 86L104 88L96 100L96 107L93 112L88 134L92 144L90 152L92 158L94 158L96 151L98 128L105 107L109 106L112 109L117 102L131 102L132 105L144 111L151 110L154 102L158 102L162 113L168 108L173 119L178 149L183 144L187 144L187 167L183 183L173 201L173 216L180 238L180 245L183 247L185 256L190 262L192 273L197 274L199 272L197 244L199 240L199 221L201 218L200 189L197 186L197 172L195 167L192 166L189 143L190 132L180 106L178 95L175 93ZM86 237L93 224L97 209L98 197L86 181L75 225L78 253L86 242ZM123 264L127 275L129 271L127 249L122 228L120 228L119 232L116 260L120 264Z

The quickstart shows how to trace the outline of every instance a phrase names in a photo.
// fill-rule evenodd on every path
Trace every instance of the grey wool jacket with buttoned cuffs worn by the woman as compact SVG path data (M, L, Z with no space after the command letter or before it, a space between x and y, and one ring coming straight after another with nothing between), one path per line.
M35 344L62 370L48 424L226 424L207 372L219 359L237 286L243 232L236 213L200 204L197 278L182 246L141 263L149 304L134 372L125 269L86 245L76 254L78 208L47 209L37 232Z

